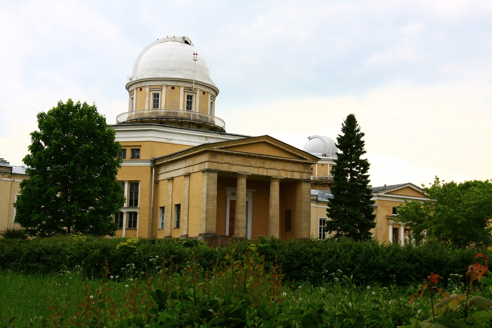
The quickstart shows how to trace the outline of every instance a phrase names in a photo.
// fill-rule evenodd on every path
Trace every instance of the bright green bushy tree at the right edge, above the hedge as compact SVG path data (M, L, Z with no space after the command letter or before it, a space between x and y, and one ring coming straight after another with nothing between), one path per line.
M412 229L415 241L424 236L465 248L492 245L492 183L489 180L440 181L422 185L430 201L408 202L398 207L396 220Z

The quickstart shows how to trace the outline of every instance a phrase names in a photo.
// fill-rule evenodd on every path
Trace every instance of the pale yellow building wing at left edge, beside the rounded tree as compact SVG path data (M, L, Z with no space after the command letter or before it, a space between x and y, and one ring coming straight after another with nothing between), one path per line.
M29 179L26 167L12 166L0 158L0 234L7 229L19 229L15 223L14 202L20 195L20 183Z

